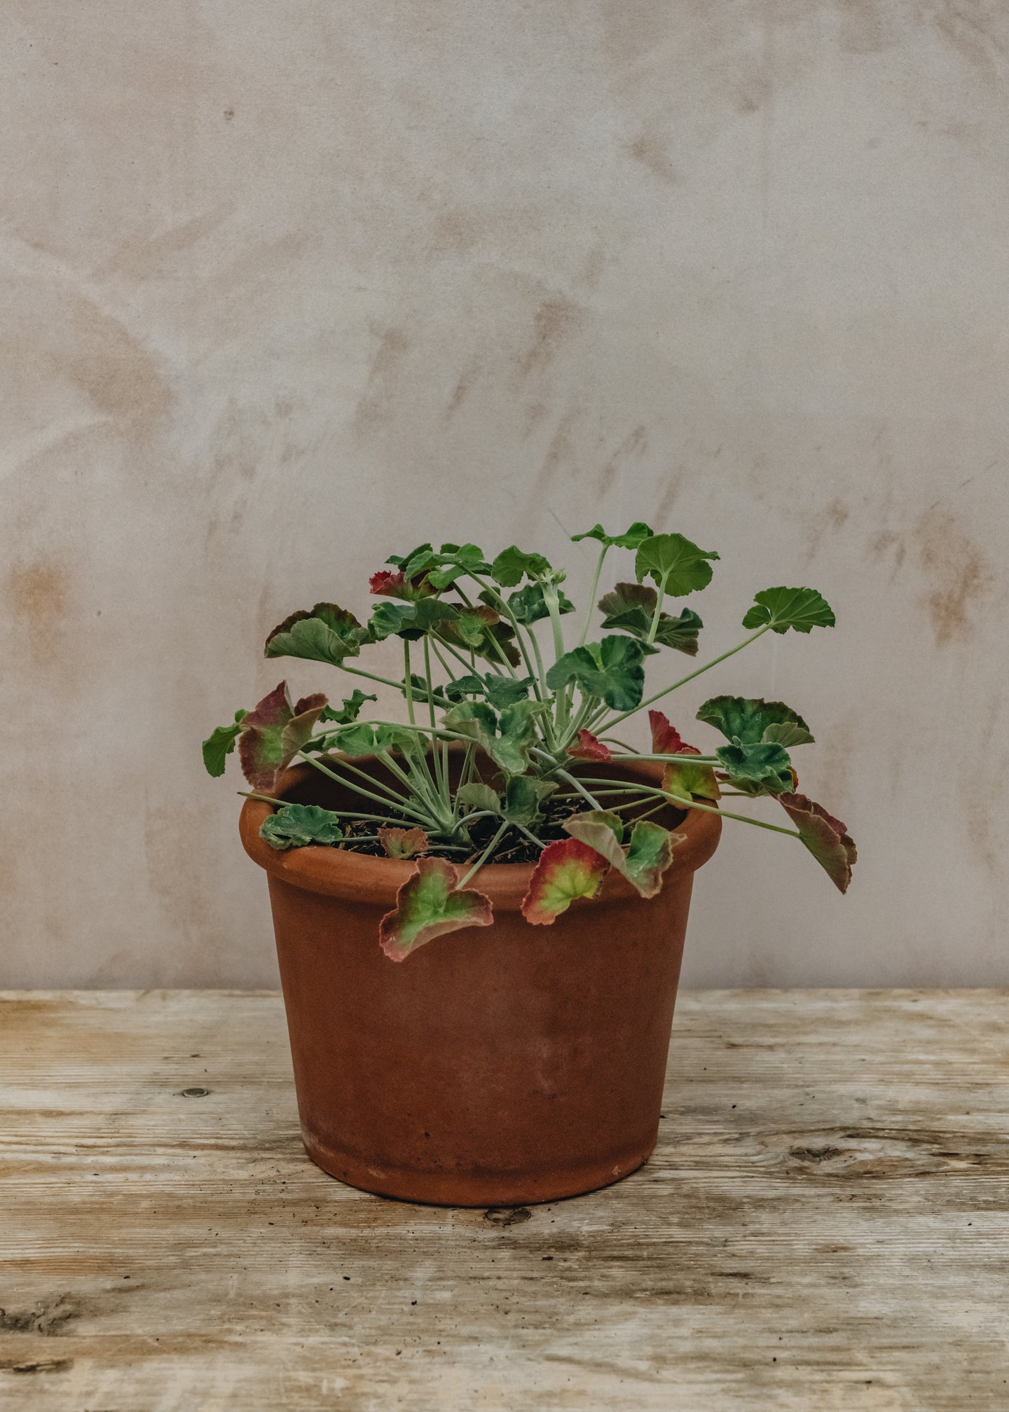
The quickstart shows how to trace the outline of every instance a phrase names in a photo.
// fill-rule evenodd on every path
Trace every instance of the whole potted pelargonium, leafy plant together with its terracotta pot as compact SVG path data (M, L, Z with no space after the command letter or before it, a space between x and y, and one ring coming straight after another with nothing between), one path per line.
M595 630L543 555L424 544L372 578L367 621L317 603L266 641L393 688L404 719L362 719L377 698L358 685L331 705L281 682L203 743L212 775L237 747L250 785L305 1148L366 1190L506 1206L626 1176L656 1141L692 875L722 820L851 878L844 825L798 792L798 712L715 696L697 719L722 738L701 748L656 709L766 633L832 626L821 594L765 589L738 647L646 695L646 665L697 655L701 618L668 604L718 555L640 522L574 538L599 542L591 600L608 556L635 555ZM380 652L362 665L383 642L393 675ZM765 796L787 819L739 812Z

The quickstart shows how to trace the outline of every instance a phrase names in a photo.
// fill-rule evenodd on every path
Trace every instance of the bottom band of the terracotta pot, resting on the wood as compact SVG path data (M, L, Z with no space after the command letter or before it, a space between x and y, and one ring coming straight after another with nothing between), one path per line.
M302 1134L305 1152L326 1176L336 1178L346 1186L373 1196L387 1196L397 1202L413 1202L420 1206L536 1206L543 1202L560 1202L568 1196L585 1196L603 1186L622 1182L637 1172L651 1156L656 1144L644 1151L598 1161L562 1172L544 1172L540 1176L489 1172L482 1176L475 1172L415 1172L383 1171L366 1166L345 1152L311 1142Z

